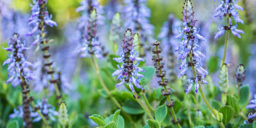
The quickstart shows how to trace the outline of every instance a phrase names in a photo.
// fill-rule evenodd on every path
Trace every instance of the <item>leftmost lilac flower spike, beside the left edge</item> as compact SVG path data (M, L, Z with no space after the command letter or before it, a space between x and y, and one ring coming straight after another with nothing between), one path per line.
M4 61L3 66L8 64L8 80L12 83L12 86L15 87L19 85L22 80L21 77L25 80L26 83L29 83L32 79L32 71L29 67L33 68L33 64L28 62L28 58L25 58L23 51L28 50L28 47L25 47L25 42L21 43L19 35L14 33L11 40L8 42L8 47L3 48L6 51L12 52L8 55L8 59Z

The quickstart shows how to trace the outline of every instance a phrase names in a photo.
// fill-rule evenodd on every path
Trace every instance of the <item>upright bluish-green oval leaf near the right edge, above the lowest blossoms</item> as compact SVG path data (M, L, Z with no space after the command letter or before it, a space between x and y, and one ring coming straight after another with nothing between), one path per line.
M242 86L240 88L239 100L238 100L238 104L240 108L243 108L245 105L247 105L249 94L250 94L250 87L248 85Z

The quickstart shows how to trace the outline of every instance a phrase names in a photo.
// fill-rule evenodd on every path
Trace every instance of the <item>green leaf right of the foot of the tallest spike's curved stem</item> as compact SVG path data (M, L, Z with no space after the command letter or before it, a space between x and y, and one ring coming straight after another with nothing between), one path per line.
M223 124L227 124L230 121L230 119L234 116L235 110L231 106L223 106L220 108L220 113L223 114Z

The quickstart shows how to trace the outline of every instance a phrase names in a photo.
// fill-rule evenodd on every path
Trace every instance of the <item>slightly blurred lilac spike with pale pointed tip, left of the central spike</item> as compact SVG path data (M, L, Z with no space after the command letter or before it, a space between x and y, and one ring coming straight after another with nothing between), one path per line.
M90 54L94 54L96 58L103 58L103 50L100 47L100 42L97 38L97 13L93 9L90 14L90 19L87 23L86 33L82 40L82 47L78 50L80 57L87 57Z

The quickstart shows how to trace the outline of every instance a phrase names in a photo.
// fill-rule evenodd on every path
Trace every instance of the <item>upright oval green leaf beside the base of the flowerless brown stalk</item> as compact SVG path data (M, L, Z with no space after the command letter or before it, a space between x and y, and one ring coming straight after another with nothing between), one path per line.
M165 104L156 108L155 118L159 124L162 124L166 115L167 115L167 107Z

